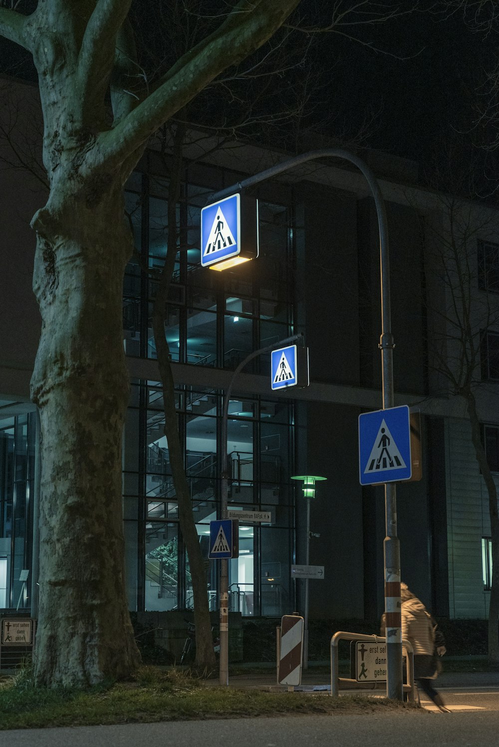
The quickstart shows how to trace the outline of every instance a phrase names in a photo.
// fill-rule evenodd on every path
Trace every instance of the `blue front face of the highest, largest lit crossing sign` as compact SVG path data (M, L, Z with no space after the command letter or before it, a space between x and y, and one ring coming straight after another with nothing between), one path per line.
M233 194L201 211L201 264L207 267L241 251L241 196Z

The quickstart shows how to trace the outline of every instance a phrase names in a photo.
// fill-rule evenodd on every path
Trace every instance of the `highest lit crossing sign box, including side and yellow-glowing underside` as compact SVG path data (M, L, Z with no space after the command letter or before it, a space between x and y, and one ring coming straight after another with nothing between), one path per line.
M258 202L233 194L201 211L201 264L222 269L258 256ZM215 266L217 265L217 266Z

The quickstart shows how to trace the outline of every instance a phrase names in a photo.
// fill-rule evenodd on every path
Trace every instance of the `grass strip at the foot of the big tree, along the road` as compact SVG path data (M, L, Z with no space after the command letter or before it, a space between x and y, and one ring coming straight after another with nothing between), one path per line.
M415 706L342 695L263 692L205 684L176 670L140 670L134 681L86 690L35 687L14 678L0 687L0 729L186 721L190 719L290 716L306 713L373 713L415 710Z

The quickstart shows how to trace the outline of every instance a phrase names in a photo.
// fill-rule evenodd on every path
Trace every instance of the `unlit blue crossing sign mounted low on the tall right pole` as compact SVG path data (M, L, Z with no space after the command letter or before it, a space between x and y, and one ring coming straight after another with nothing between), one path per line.
M359 476L361 485L411 479L409 407L359 415Z

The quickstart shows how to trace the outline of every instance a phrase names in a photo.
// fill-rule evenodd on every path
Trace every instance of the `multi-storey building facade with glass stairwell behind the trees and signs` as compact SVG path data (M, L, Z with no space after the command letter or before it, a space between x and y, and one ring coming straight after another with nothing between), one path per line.
M485 618L488 497L465 406L451 396L432 354L452 300L435 259L450 237L448 202L418 187L415 164L364 157L388 211L395 403L421 414L423 477L397 488L402 577L437 615ZM383 607L384 500L382 487L359 484L358 418L382 407L381 321L378 226L364 177L321 161L261 184L258 259L220 273L200 264L199 216L211 193L280 160L285 155L257 146L214 150L202 159L186 149L164 328L199 542L208 557L209 521L220 510L220 425L231 372L253 350L303 332L308 388L272 392L269 356L259 356L238 377L229 404L229 507L270 513L266 523L240 523L240 555L229 562L230 604L244 616L277 617L303 607L291 565L305 562L306 500L291 477L317 474L327 481L312 502L310 562L324 566L325 579L310 583L310 616L374 620ZM36 613L40 465L29 378L40 317L31 293L35 238L28 223L44 193L19 170L4 172L4 182L0 609L19 604ZM123 288L131 382L123 517L128 600L138 611L192 605L151 323L154 270L166 252L167 197L168 163L152 145L126 186L137 251ZM499 477L498 214L467 202L459 209L474 222L465 241L472 295L489 307L476 391L489 463ZM215 609L217 562L207 560L206 569ZM28 583L19 580L22 570L30 571Z

